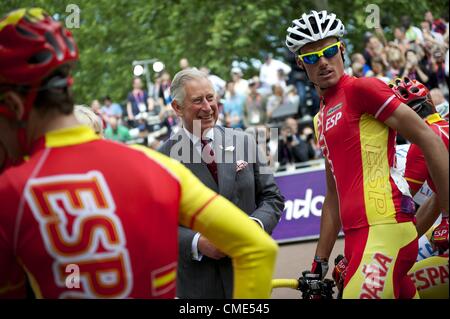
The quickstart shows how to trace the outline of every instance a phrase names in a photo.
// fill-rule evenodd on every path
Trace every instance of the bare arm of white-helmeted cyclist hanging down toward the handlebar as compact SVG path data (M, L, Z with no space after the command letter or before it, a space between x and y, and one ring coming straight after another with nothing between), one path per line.
M336 184L327 160L325 160L325 171L327 194L322 206L320 238L316 248L316 256L328 259L341 229L341 219L339 217L339 201Z

